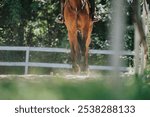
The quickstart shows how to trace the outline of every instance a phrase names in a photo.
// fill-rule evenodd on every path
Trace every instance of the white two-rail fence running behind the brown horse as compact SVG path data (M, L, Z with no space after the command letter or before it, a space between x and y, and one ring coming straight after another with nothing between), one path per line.
M71 68L70 64L60 64L60 63L39 63L30 62L30 52L55 52L55 53L70 53L69 49L65 48L40 48L40 47L11 47L11 46L0 46L0 51L25 51L25 61L24 62L0 62L0 66L23 66L25 67L24 74L28 74L29 67L48 67L48 68ZM103 55L113 55L112 50L90 50L91 54L103 54ZM133 55L131 51L123 51L122 55ZM3 56L3 55L0 55ZM89 69L92 70L113 70L112 66L96 66L90 65ZM120 67L120 71L128 71L128 67Z

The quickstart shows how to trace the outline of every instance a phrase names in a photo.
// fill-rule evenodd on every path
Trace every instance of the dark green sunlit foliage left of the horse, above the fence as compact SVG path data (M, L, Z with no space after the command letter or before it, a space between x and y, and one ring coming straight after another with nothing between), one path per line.
M0 45L61 46L64 26L54 22L55 0L4 0L0 6Z

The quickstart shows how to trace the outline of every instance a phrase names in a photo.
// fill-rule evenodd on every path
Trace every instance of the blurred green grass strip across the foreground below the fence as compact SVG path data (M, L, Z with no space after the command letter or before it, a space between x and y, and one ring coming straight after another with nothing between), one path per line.
M0 76L0 99L150 99L149 76L66 79Z

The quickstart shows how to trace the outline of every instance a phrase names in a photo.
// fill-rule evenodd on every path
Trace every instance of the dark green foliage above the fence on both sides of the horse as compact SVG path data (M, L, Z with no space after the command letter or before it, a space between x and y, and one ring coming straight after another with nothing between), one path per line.
M59 12L60 3L56 0L2 0L0 45L68 47L65 26L54 21ZM94 25L91 47L107 49L110 0L97 0L96 13L101 21ZM127 30L130 33L130 28ZM131 36L127 33L126 39Z

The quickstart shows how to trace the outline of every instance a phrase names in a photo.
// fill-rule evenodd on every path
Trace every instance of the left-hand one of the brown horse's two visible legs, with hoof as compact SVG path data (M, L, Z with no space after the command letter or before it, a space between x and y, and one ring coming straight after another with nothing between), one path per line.
M71 59L72 59L72 68L75 73L80 72L80 67L78 65L79 62L79 57L80 57L80 50L79 50L79 45L77 42L77 37L76 34L69 32L68 33L69 37L69 43L70 43L70 48L71 48Z

